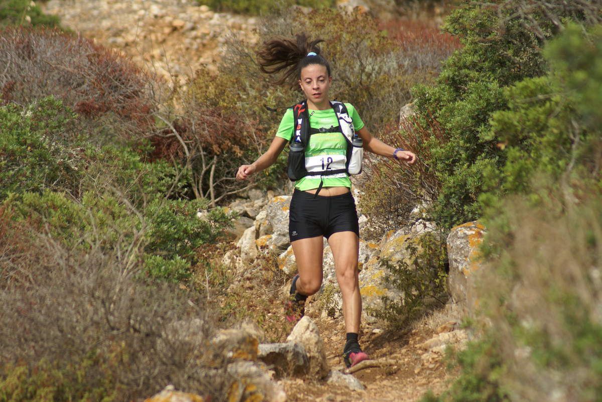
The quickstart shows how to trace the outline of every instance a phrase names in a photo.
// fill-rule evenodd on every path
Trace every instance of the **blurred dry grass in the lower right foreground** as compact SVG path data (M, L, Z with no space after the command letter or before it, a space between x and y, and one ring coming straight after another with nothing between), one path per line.
M505 236L480 272L483 321L495 329L517 400L592 400L600 395L602 203L589 196L506 204ZM500 233L500 232L498 232Z

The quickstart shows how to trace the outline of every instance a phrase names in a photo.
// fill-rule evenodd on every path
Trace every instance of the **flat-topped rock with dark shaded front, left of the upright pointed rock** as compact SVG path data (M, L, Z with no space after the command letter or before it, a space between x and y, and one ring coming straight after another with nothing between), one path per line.
M258 359L274 370L277 377L302 377L309 369L305 348L296 343L260 344Z

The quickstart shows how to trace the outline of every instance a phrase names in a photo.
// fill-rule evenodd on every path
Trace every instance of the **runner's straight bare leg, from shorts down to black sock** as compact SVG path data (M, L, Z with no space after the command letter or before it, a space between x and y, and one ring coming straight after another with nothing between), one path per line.
M362 298L358 281L358 235L352 231L330 235L328 244L335 261L337 281L343 295L343 317L346 332L359 332L362 315Z

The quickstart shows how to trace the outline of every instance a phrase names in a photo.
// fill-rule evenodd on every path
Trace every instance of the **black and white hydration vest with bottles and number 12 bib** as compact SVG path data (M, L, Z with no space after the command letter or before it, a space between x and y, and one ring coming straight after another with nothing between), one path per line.
M347 108L343 102L338 101L330 102L330 106L337 114L338 126L320 129L313 129L309 126L306 100L293 106L293 136L290 141L287 168L288 178L291 181L305 176L347 177L347 175L359 174L362 171L362 158L364 157L362 139L353 129L353 121L347 113ZM309 137L315 133L341 133L347 142L346 154L305 156ZM320 182L320 188L321 184Z

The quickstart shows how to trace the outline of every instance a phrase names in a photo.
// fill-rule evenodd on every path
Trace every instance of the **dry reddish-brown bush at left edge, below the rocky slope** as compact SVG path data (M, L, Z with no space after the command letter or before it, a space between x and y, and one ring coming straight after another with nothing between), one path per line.
M116 130L140 136L154 124L152 78L88 39L51 29L5 28L0 65L2 104L25 105L53 95L87 118L88 131L110 124L105 135Z

